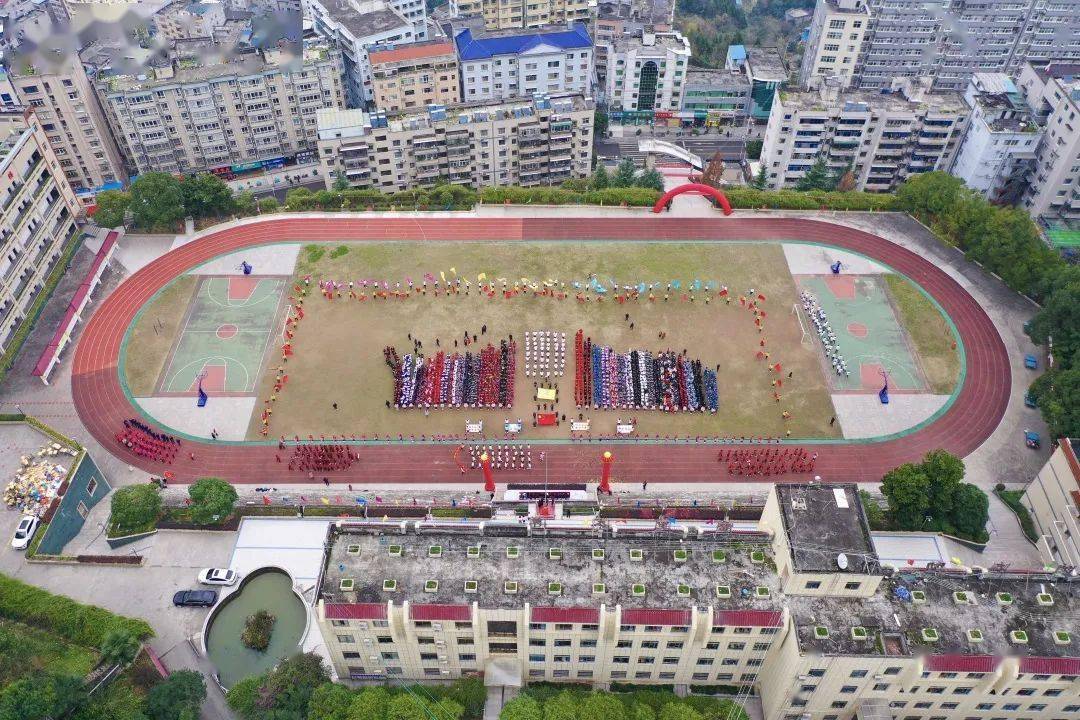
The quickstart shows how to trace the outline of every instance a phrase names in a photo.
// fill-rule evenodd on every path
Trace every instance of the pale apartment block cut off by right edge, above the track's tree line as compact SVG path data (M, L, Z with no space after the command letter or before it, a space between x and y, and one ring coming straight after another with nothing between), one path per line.
M1044 127L1024 207L1031 217L1080 219L1080 64L1028 64L1017 83Z

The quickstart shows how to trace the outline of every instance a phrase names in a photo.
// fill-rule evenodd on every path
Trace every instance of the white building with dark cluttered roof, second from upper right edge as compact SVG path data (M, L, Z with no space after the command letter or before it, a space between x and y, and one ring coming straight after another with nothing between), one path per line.
M949 172L991 202L1017 202L1042 128L1007 74L974 73L963 100L970 121Z

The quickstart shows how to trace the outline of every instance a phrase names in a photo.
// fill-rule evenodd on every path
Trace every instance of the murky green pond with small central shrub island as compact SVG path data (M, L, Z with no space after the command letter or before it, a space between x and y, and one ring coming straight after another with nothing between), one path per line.
M257 610L278 619L266 652L251 650L240 640L244 622ZM297 650L307 626L307 609L293 592L293 580L275 569L256 570L226 597L206 625L206 654L226 688L252 675L266 673Z

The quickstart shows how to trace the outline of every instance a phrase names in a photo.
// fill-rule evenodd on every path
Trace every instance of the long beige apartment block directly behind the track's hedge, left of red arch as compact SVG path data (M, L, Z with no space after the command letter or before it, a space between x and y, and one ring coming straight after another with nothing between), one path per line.
M581 95L433 107L422 112L319 113L327 185L384 192L471 185L558 185L592 172L593 101Z

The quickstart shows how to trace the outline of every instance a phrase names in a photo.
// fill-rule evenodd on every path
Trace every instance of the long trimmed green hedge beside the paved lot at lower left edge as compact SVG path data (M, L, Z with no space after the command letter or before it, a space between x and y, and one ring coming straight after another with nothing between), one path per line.
M82 604L3 574L0 574L0 617L49 630L89 648L100 648L105 636L112 630L129 631L140 640L153 636L153 629L144 620Z

